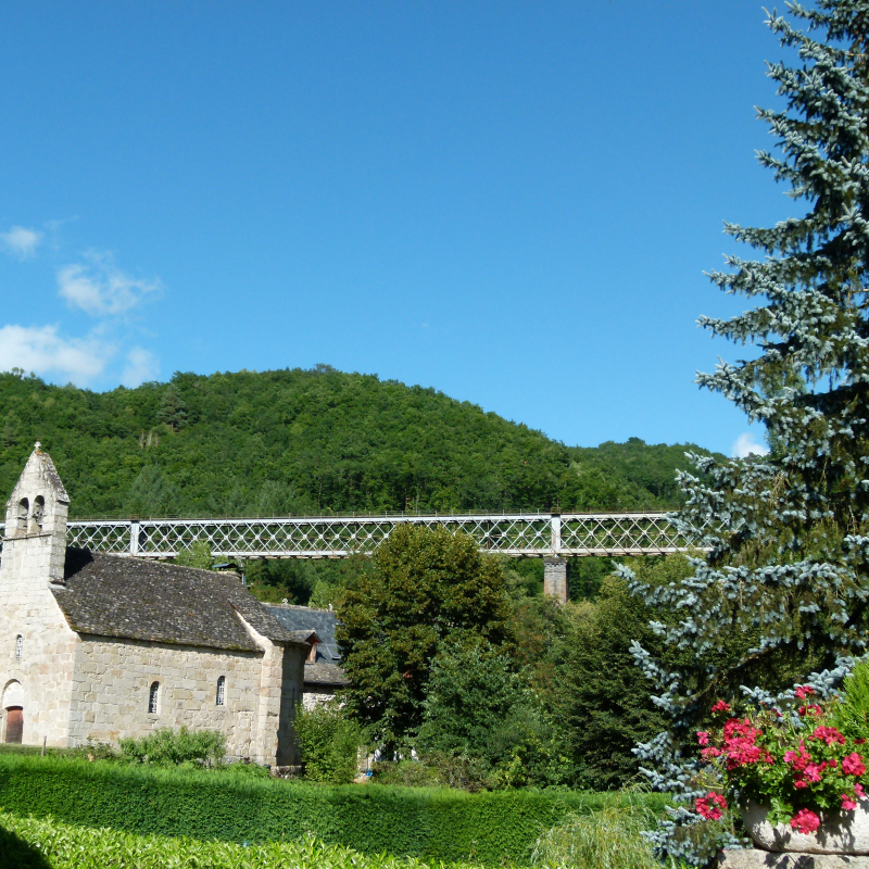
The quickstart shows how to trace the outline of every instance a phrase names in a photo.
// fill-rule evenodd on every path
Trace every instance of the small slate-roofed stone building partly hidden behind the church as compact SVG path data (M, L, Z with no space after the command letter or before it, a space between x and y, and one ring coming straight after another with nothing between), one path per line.
M335 613L294 604L267 604L275 618L287 630L306 633L311 651L305 658L304 695L306 709L315 703L325 703L335 696L339 688L347 684L341 670L341 653L335 640Z

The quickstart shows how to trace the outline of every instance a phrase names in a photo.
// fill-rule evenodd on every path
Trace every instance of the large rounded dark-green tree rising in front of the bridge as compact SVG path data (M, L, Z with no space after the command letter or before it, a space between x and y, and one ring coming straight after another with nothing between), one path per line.
M433 659L446 646L503 645L509 602L500 563L467 534L399 526L338 602L344 698L387 751L423 719Z

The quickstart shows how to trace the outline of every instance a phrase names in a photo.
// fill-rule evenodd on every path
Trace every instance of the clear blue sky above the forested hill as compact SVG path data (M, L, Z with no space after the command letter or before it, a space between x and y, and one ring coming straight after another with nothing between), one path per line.
M328 363L569 444L763 440L696 369L783 50L754 0L7 3L0 369ZM1 410L1 408L0 408Z

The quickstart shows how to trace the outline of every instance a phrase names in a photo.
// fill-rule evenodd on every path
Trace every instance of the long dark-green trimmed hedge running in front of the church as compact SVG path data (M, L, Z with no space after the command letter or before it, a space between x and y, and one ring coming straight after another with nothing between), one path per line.
M0 806L84 827L226 842L313 833L366 854L427 861L527 865L538 836L568 811L626 803L627 795L501 791L467 794L376 784L324 786L232 772L153 770L0 755ZM666 797L645 801L663 810Z

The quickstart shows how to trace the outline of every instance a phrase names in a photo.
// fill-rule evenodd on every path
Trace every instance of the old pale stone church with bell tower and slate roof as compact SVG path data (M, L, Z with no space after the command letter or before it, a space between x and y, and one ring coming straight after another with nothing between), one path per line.
M237 575L67 547L68 503L37 444L7 506L0 740L116 744L186 725L223 732L230 757L298 763L311 630Z

